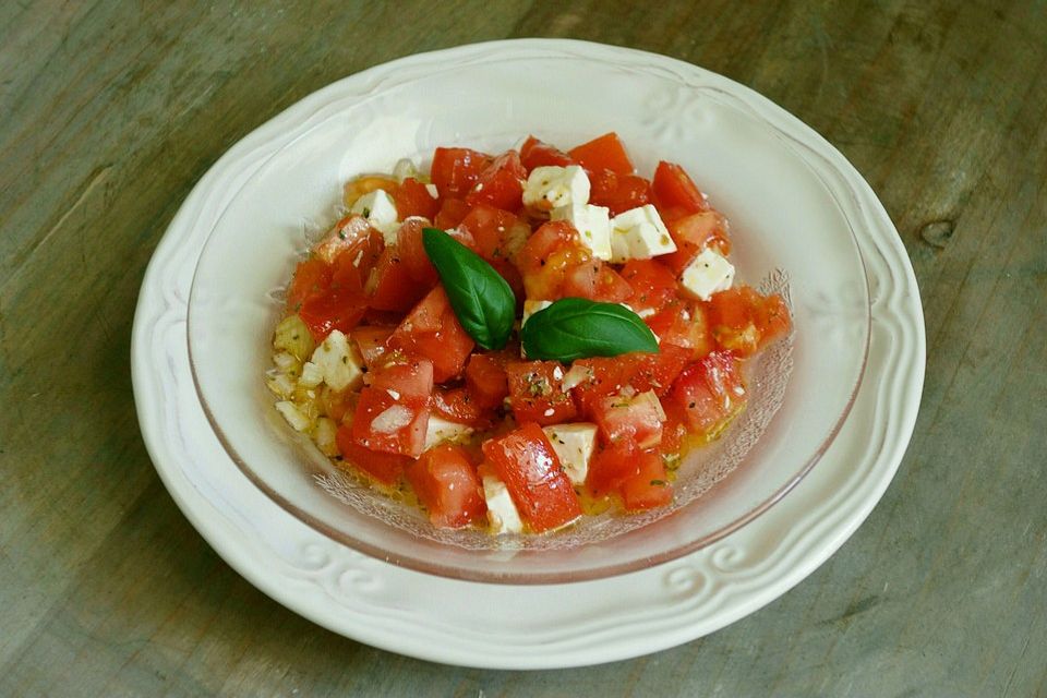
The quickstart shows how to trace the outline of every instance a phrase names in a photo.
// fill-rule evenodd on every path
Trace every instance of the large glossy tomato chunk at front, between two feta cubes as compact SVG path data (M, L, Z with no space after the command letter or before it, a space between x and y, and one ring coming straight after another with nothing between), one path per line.
M556 452L534 422L483 444L484 458L505 482L520 516L540 533L581 516L578 495Z

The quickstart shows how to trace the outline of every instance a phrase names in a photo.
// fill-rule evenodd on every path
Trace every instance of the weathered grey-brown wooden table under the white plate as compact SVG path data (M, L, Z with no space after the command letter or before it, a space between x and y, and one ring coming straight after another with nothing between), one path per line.
M1043 2L0 3L0 695L1047 695ZM408 53L573 37L747 84L851 159L919 280L912 445L858 532L710 637L573 671L441 666L232 571L145 453L135 298L194 182Z

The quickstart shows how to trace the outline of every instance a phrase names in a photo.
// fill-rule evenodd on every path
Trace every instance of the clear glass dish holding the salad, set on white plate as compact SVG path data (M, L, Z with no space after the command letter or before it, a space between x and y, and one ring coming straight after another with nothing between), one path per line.
M578 581L673 559L784 496L832 443L863 377L870 305L855 241L862 221L844 213L839 197L847 189L813 151L732 97L723 77L681 67L627 70L540 51L446 72L392 63L291 107L268 124L269 132L281 127L279 137L248 136L267 157L219 184L224 213L196 266L188 320L200 400L248 478L350 547L421 571L504 583ZM650 176L659 159L687 168L731 220L739 278L785 291L793 312L793 335L751 366L746 412L686 458L672 507L592 517L542 537L438 530L346 476L284 422L263 383L279 315L275 291L308 236L335 220L347 179L389 171L401 157L428 166L437 145L497 152L534 133L567 146L611 130L641 173Z

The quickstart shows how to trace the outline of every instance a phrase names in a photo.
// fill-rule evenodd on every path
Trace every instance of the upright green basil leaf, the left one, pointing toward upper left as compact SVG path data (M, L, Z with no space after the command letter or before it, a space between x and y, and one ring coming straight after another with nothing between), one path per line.
M443 230L423 228L422 244L462 329L484 349L503 348L516 320L516 297L506 280Z

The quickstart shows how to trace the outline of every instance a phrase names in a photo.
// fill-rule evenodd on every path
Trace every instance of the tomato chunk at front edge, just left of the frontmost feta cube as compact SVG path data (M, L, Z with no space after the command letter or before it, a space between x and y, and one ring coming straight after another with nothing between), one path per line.
M430 448L405 469L407 481L429 510L429 520L441 528L461 528L488 512L483 483L460 446Z

